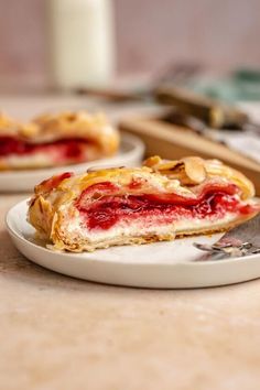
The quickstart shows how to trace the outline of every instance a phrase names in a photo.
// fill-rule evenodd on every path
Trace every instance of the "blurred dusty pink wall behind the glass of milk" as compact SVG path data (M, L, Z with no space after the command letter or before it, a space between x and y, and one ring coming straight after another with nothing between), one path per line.
M46 0L0 0L0 85L47 82ZM115 0L118 72L260 67L259 0Z

